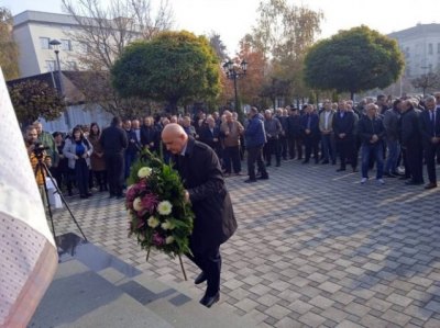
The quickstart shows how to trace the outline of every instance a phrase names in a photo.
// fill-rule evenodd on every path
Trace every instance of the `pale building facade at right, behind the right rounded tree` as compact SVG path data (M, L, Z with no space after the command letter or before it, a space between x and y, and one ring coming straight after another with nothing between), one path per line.
M413 79L440 69L440 24L417 24L388 34L405 54L405 78Z

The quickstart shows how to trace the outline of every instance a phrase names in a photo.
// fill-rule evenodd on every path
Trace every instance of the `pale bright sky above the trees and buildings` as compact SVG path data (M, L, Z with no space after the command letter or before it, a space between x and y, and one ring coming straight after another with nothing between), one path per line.
M106 0L101 0L106 2ZM169 0L175 27L196 34L216 31L232 55L240 38L251 31L258 0ZM361 24L381 33L400 31L417 23L440 23L440 0L302 0L289 1L324 12L320 37ZM12 14L25 10L62 12L61 0L0 0Z

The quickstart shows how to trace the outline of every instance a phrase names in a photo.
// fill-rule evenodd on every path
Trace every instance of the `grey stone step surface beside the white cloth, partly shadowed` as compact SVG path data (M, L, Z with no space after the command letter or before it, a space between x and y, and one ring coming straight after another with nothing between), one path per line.
M29 327L173 326L78 260L58 265Z

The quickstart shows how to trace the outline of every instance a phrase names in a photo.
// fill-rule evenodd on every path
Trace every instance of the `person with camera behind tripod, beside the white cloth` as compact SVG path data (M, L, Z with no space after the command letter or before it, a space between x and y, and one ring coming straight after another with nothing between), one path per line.
M52 165L51 156L44 150L44 146L38 143L38 134L34 125L26 128L25 146L28 149L29 159L31 161L32 170L35 173L35 181L38 186L40 194L42 195L43 204L47 205L46 194L44 192L45 172L38 169L36 172L37 163L42 160L47 168Z

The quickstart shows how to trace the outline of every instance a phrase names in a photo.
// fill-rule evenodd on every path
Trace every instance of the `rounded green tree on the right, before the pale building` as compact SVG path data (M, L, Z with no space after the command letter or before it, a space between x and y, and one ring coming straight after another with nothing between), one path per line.
M355 92L386 88L404 68L397 42L367 26L340 31L315 44L305 58L305 81L320 90Z

